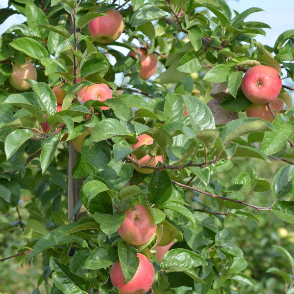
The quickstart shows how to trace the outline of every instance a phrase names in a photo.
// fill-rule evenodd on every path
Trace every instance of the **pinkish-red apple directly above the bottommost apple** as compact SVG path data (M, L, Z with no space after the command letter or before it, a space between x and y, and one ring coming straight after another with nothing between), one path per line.
M145 205L135 207L135 210L131 207L124 210L125 219L117 231L125 242L142 245L153 237L157 225Z

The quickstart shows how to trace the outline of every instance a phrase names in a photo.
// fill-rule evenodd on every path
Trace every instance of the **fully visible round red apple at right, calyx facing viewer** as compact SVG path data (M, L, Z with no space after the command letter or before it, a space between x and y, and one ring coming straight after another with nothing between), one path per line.
M241 87L251 102L267 104L278 97L282 89L282 80L275 69L266 65L256 65L245 73Z

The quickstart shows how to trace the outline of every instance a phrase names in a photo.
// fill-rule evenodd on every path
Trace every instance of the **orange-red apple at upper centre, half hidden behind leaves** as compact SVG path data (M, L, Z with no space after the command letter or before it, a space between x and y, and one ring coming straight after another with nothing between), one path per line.
M141 55L141 70L139 72L139 77L147 80L156 71L158 62L157 58L153 53L147 54L145 49L136 49L135 52ZM129 51L127 55L136 58L138 57L133 51Z

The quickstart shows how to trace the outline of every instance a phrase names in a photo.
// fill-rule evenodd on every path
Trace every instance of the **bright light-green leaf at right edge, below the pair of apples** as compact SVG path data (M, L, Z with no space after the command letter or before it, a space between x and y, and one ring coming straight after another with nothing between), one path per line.
M280 151L294 135L294 122L283 122L277 116L273 122L276 132L265 132L261 150L265 154L272 154Z

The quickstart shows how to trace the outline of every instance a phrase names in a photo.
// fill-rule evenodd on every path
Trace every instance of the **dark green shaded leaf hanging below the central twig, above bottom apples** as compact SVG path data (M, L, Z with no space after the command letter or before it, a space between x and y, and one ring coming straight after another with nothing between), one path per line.
M148 192L147 199L154 204L164 203L171 197L172 182L166 170L153 171Z

